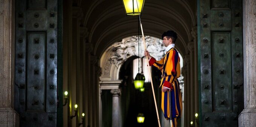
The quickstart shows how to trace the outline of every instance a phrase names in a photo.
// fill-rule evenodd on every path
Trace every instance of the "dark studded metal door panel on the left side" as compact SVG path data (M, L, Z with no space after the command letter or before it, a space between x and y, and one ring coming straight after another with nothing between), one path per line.
M21 127L56 127L57 4L16 1L15 110Z

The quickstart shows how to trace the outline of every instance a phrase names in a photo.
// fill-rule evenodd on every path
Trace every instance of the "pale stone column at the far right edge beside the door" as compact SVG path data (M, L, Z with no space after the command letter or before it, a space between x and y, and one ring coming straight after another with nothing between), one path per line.
M244 110L239 127L256 127L256 1L243 0Z

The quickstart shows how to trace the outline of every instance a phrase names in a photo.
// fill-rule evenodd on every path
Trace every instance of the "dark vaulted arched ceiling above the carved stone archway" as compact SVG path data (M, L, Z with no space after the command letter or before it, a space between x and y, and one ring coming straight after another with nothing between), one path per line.
M145 0L141 16L145 35L161 38L164 31L178 34L175 47L181 55L188 54L190 31L197 25L196 0ZM138 16L126 16L122 0L73 0L81 7L81 26L88 29L87 41L93 54L101 57L114 42L138 34Z

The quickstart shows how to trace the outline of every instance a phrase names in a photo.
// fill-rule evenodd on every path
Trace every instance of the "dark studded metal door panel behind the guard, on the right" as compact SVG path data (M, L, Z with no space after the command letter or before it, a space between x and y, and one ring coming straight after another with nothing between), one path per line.
M242 0L199 0L202 127L238 126L243 109Z

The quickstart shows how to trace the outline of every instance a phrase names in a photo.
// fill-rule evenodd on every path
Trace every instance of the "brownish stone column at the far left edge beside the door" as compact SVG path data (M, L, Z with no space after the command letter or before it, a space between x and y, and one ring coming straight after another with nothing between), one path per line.
M19 126L14 110L15 0L0 0L0 126Z

